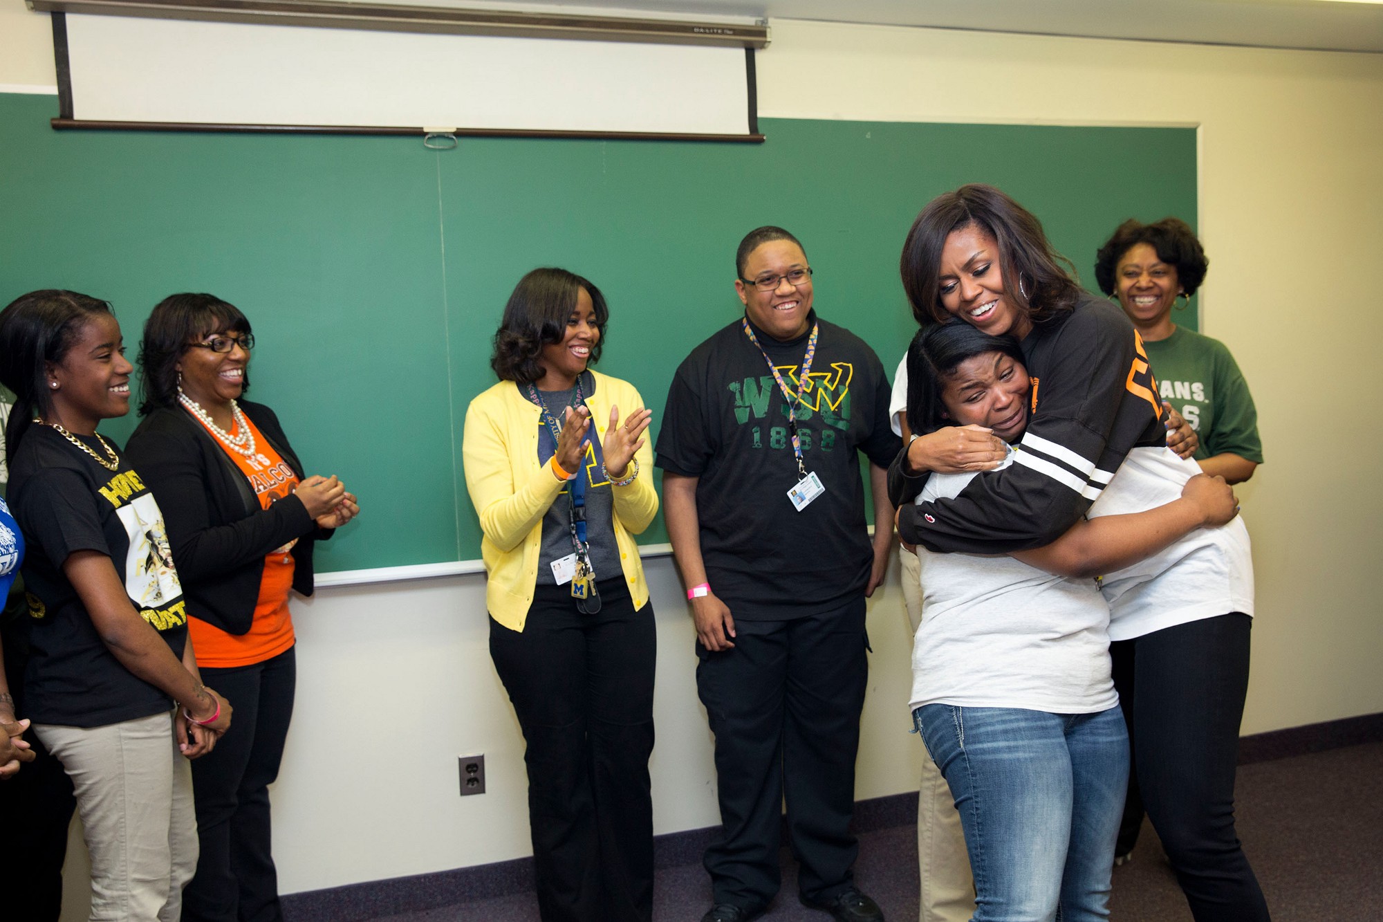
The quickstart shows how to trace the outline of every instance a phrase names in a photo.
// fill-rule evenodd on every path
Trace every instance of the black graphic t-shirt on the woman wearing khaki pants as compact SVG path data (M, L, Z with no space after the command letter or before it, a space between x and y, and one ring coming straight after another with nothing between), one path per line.
M76 437L105 457L94 437ZM108 555L134 609L183 655L183 587L163 514L138 473L124 458L108 471L48 426L33 425L10 462L10 507L28 545L25 716L39 724L104 727L171 707L167 695L120 665L62 573L76 551Z

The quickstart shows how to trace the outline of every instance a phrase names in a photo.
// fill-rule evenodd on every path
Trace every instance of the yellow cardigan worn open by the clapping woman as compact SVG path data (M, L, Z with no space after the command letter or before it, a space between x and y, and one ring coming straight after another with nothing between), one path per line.
M620 421L643 406L633 385L599 371L596 392L586 397L593 437L603 439L610 426L610 406L620 407ZM501 381L466 410L462 461L466 490L480 515L480 554L488 581L485 606L505 627L521 631L538 586L538 558L542 554L542 516L564 486L545 464L538 464L538 426L542 411L513 381ZM629 583L635 611L649 601L643 563L633 536L649 527L658 511L653 489L653 439L644 433L635 455L639 476L628 486L611 486L614 493L614 537L620 562Z

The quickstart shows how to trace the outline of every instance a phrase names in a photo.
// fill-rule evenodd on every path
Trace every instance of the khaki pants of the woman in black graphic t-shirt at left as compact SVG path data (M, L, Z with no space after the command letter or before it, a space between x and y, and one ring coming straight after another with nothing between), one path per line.
M76 790L91 853L91 922L178 922L198 844L192 770L173 741L171 713L35 731Z

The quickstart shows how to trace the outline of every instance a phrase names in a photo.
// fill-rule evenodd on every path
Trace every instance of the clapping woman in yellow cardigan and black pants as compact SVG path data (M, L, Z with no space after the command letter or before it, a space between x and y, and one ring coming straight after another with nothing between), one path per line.
M651 413L632 385L586 367L607 318L585 278L524 275L495 334L499 383L470 401L462 449L490 656L527 742L544 922L653 918L657 635L632 536L658 496Z

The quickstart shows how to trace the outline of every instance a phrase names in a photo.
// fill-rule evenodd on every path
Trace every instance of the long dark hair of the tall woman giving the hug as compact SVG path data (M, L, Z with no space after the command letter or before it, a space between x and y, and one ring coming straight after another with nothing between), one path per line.
M918 324L950 320L939 291L942 248L952 231L971 224L999 244L1004 296L1034 324L1076 306L1080 298L1080 285L1072 278L1076 267L1051 248L1041 222L993 186L971 183L928 202L903 241L899 271Z

